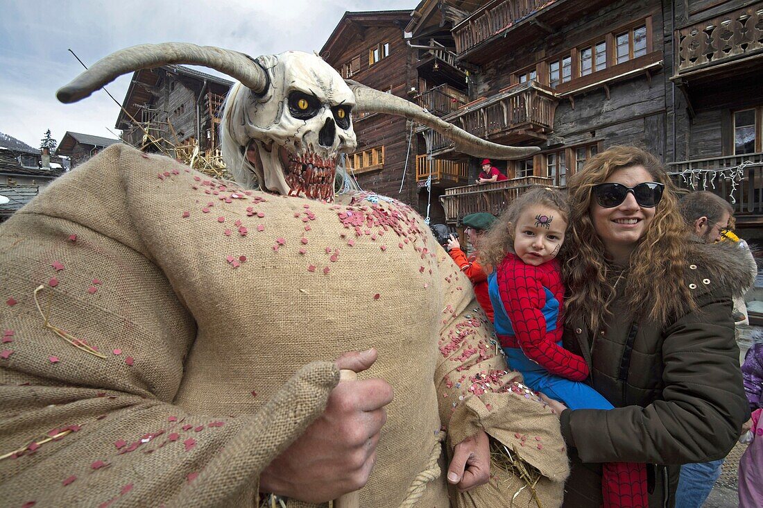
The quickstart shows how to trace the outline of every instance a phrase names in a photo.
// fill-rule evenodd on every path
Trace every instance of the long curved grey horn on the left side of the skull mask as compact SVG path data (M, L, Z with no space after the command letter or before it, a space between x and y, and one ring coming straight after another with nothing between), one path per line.
M114 81L122 74L139 69L150 69L169 63L201 65L226 73L239 80L257 94L266 92L268 75L253 59L244 53L214 46L197 46L183 42L139 44L101 58L89 70L56 92L61 102L69 104L85 99L95 90Z

